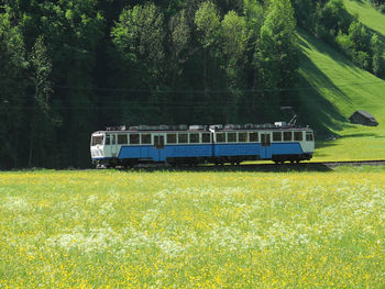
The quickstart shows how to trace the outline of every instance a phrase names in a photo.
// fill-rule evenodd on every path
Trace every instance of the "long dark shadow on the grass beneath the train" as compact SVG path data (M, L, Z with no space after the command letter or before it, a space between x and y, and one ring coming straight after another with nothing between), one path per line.
M300 173L300 171L332 171L322 164L245 164L240 166L180 166L180 167L135 167L123 171L193 171L193 173Z

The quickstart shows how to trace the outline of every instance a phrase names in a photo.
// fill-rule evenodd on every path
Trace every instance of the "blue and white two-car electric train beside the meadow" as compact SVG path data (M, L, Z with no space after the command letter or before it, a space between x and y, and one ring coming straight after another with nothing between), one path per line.
M92 164L133 167L140 164L200 165L273 160L310 160L315 132L309 126L274 124L138 125L106 127L91 134Z

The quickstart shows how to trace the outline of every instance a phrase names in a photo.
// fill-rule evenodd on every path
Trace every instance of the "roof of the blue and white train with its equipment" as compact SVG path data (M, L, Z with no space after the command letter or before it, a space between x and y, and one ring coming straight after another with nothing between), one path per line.
M105 131L98 131L96 133L122 133L122 132L207 132L210 130L223 131L223 132L237 132L237 131L264 131L264 130L309 130L309 126L288 125L285 122L276 122L275 124L213 124L213 125L135 125L129 126L108 126Z

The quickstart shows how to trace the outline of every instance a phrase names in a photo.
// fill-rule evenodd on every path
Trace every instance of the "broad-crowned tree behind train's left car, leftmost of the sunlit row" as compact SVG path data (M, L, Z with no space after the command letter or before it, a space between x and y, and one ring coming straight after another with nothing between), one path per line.
M121 93L127 107L119 112L121 120L123 123L150 122L151 118L155 121L161 114L156 103L163 97L157 91L165 89L167 67L163 12L153 3L124 9L111 30L111 36L114 58L120 66L114 82L133 91Z

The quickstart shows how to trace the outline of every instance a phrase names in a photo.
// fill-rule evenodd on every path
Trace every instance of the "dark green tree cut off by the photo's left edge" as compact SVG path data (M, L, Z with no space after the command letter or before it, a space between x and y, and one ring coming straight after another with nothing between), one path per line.
M28 101L25 80L28 62L23 36L11 23L8 12L0 13L0 158L2 168L18 167L20 162L21 131Z

